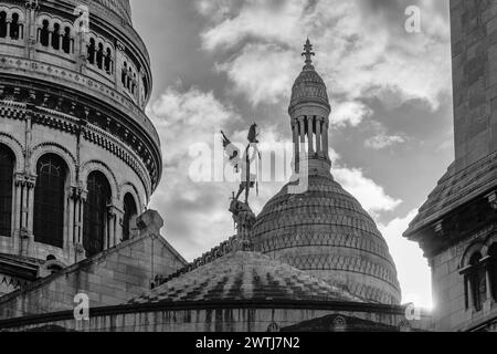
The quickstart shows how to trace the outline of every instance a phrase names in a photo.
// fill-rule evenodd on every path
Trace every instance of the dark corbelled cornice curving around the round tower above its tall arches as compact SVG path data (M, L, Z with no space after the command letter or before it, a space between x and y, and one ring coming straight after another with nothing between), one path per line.
M42 88L40 87L40 90ZM126 126L124 122L116 119L112 112L108 112L110 115L105 115L105 112L98 107L89 110L80 102L70 101L46 91L42 92L45 93L41 95L30 91L28 97L27 90L0 86L0 101L8 100L0 102L0 110L4 106L3 110L8 117L23 119L27 104L15 104L14 102L34 100L34 104L31 105L35 111L33 117L36 123L70 134L80 134L81 132L87 140L109 150L134 168L146 186L147 194L151 195L161 174L159 146L144 140L142 137L147 135L136 134L139 132L138 124L136 127Z

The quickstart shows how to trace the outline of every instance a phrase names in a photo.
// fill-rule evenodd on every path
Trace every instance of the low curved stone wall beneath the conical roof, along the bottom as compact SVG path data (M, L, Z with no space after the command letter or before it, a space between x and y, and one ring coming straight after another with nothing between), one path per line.
M328 309L325 309L326 306L319 309L317 305L316 309L308 309L306 304L300 304L302 308L298 304L274 305L274 308L271 305L257 308L254 304L243 306L241 302L239 306L222 304L216 308L178 303L148 310L127 305L96 309L91 314L89 321L75 321L71 313L51 319L21 319L10 323L0 321L0 330L18 332L59 326L84 332L267 332L269 327L282 329L331 314L394 326L399 331L423 330L427 329L430 323L427 316L423 316L421 321L406 321L404 309L400 306L373 309L373 305L363 304L362 309L338 310L338 305L334 309L332 303Z

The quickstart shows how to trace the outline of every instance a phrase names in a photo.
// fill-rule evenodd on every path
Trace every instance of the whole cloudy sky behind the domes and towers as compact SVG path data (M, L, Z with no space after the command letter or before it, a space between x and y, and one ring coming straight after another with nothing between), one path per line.
M332 101L332 174L374 217L405 301L431 305L430 272L401 235L454 158L448 1L131 0L155 79L148 113L165 170L151 208L188 259L233 233L230 183L194 183L189 146L220 129L290 140L287 107L307 37ZM421 10L421 32L405 10ZM243 140L241 140L243 142ZM255 211L282 184L264 184Z

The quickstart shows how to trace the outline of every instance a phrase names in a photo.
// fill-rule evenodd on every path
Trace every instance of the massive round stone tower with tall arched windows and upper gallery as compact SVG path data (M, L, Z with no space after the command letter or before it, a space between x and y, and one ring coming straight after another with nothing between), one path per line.
M135 236L151 84L128 0L0 1L0 295Z

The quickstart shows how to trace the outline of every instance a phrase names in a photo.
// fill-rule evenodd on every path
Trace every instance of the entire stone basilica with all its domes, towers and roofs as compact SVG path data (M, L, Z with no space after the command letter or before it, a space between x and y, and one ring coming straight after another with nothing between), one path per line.
M332 176L309 40L288 87L294 178L258 216L232 200L235 235L189 263L147 208L161 143L129 1L0 1L0 331L496 330L497 4L451 14L456 162L404 233L433 271L425 313Z

